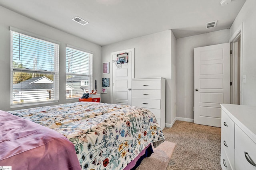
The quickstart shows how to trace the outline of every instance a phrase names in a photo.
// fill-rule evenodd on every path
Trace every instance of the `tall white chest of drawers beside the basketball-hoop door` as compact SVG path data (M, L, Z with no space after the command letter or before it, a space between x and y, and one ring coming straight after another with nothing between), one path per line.
M150 110L156 116L161 129L164 129L165 78L132 79L132 105Z

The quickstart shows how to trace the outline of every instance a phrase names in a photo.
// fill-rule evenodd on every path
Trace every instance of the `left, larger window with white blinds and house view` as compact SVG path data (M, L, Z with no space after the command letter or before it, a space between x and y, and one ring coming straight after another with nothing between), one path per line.
M11 104L58 100L59 45L11 31Z

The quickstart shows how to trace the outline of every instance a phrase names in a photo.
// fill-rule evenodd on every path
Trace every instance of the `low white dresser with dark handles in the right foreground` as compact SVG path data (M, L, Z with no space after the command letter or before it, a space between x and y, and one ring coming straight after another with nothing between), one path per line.
M256 170L256 106L220 105L222 170Z

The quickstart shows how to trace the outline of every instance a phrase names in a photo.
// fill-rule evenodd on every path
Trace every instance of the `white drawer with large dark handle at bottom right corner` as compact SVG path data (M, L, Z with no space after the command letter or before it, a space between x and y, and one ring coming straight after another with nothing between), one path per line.
M235 127L235 143L236 169L256 170L256 166L250 164L252 161L256 164L256 144L237 125Z

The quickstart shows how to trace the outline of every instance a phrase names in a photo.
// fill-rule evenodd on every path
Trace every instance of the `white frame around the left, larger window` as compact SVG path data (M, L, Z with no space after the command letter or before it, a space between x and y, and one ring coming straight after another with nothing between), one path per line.
M16 68L13 66L13 52L14 52L14 48L13 48L13 39L14 39L14 33L31 38L33 40L38 40L38 41L42 41L45 43L50 43L52 46L54 46L54 60L52 60L54 62L54 67L53 70L42 70L42 69L27 69L27 68ZM60 45L58 42L54 41L54 40L50 40L44 37L40 37L38 35L34 35L32 33L28 33L26 31L14 28L14 27L10 27L10 106L11 108L13 107L24 107L24 106L32 106L32 105L38 105L38 104L46 104L46 103L53 103L53 102L58 102L59 100L59 50L60 50ZM20 40L19 40L20 42ZM26 42L27 43L27 42ZM19 48L21 46L19 45ZM45 46L46 47L46 46ZM29 55L30 57L31 55ZM20 63L22 64L22 62ZM36 102L18 102L18 103L14 103L14 89L13 89L13 73L14 72L22 72L22 73L36 73L36 74L49 74L49 75L53 75L53 99L50 100L38 100ZM50 95L50 93L49 93ZM51 94L52 95L52 94ZM39 95L38 95L39 96ZM36 96L36 97L38 97ZM51 96L52 97L52 96ZM50 98L50 96L49 96Z

